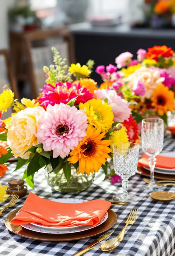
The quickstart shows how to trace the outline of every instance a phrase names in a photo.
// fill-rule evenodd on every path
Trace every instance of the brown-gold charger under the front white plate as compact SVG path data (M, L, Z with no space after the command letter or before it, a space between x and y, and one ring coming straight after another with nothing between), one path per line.
M71 240L80 240L92 236L99 235L108 229L110 229L114 224L117 222L117 215L111 209L108 209L108 218L105 222L99 225L96 228L85 230L82 232L77 233L68 233L68 234L47 234L47 233L39 233L35 231L31 231L25 229L21 226L14 226L11 224L11 220L16 216L16 213L19 211L20 208L10 212L9 215L5 219L5 226L11 232L15 233L16 235L23 236L33 240L41 240L41 241L71 241Z

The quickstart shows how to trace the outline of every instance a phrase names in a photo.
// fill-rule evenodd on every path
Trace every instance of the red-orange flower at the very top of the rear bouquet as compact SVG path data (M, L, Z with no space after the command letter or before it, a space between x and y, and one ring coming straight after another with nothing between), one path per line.
M159 57L171 57L173 56L174 51L171 47L167 47L166 45L163 46L157 46L155 45L152 48L148 48L148 52L146 53L145 57L146 59L154 59L156 61L159 61Z

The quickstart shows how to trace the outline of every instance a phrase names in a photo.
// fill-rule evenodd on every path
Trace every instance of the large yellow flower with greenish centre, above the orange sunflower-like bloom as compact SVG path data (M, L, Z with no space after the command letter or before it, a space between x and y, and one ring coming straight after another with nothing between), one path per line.
M92 99L86 103L80 103L79 108L83 109L88 117L88 123L100 128L102 132L107 132L114 123L112 108L101 99Z

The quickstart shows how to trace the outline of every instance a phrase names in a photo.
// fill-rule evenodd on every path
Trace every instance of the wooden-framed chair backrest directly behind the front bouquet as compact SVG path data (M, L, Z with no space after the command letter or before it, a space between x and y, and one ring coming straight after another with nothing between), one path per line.
M23 35L25 41L29 80L33 98L39 96L39 88L43 88L46 80L43 66L53 64L54 46L62 58L67 59L66 64L74 63L74 44L71 32L67 28L51 30L35 30Z

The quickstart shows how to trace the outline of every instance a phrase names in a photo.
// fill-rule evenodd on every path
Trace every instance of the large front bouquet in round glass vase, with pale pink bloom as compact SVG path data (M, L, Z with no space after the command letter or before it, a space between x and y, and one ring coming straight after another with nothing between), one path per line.
M65 59L55 48L53 51L55 65L44 66L46 84L37 99L23 98L19 102L13 99L14 93L8 88L0 94L2 113L11 106L15 110L12 117L1 120L4 131L0 133L0 140L6 141L7 152L2 153L0 164L4 165L12 156L18 158L16 170L26 165L23 179L31 187L34 174L45 168L48 183L56 180L59 183L54 189L66 192L74 183L76 189L69 191L80 191L88 185L79 184L77 175L82 180L86 174L88 183L90 175L102 167L107 178L107 159L112 158L112 145L128 142L134 132L130 130L131 124L133 130L136 124L128 101L115 90L107 94L99 90L96 82L89 78L92 60L83 66L71 64L67 73ZM110 72L113 68L116 67L110 66ZM134 136L134 140L138 139ZM110 176L113 174L111 170ZM63 176L64 189L61 188Z

